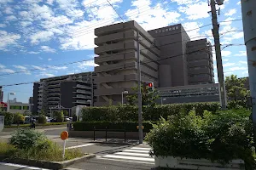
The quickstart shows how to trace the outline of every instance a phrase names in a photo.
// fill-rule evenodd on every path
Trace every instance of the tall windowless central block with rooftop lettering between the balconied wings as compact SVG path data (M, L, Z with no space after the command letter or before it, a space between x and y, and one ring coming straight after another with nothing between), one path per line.
M183 26L174 25L148 31L157 40L160 48L160 65L170 65L172 69L172 86L187 84L187 65L185 62L185 42L188 38L182 34ZM188 40L189 41L189 40ZM160 77L170 77L169 71L160 71ZM168 87L170 82L160 83Z

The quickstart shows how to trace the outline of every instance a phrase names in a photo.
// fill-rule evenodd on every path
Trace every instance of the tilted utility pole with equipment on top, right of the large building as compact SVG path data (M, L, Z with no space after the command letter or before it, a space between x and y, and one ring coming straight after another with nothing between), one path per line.
M215 53L216 53L216 63L217 63L217 71L218 71L218 88L219 88L219 99L222 110L226 110L227 108L227 97L226 97L226 89L224 83L224 71L222 65L222 57L220 50L220 41L219 41L219 25L218 18L216 12L216 2L215 0L210 0L211 3L211 12L212 12L212 34L214 37L215 43ZM220 0L218 0L219 2Z

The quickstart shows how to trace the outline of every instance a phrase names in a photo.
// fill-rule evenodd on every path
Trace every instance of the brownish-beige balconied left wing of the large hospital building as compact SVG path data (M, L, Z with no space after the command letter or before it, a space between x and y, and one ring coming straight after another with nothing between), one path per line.
M137 32L143 81L152 81L158 87L158 59L160 48L155 39L135 21L104 26L95 30L95 68L97 77L96 105L117 105L121 94L137 86Z

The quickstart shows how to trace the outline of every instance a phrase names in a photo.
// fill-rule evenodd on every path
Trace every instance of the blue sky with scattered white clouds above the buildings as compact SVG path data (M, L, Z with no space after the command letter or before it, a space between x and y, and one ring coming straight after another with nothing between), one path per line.
M109 2L121 18L136 20L146 30L181 23L187 31L198 28L188 31L191 39L212 42L212 26L205 26L211 24L207 0ZM222 48L236 45L223 50L225 76L247 77L246 48L239 45L244 44L239 2L225 0L218 20L238 20L220 23ZM107 0L0 0L0 85L93 71L94 29L120 21ZM83 62L66 65L76 61ZM216 66L214 72L217 79ZM15 92L19 101L27 102L32 83L3 90L5 101L8 92Z

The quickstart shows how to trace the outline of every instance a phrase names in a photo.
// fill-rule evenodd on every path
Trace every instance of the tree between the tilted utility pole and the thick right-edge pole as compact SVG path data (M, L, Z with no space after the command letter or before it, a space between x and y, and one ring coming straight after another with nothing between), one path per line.
M250 94L250 91L245 87L247 78L237 78L236 75L226 77L225 87L227 91L227 97L230 100L246 100Z

